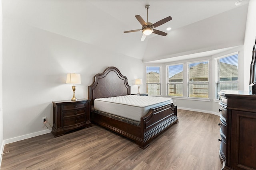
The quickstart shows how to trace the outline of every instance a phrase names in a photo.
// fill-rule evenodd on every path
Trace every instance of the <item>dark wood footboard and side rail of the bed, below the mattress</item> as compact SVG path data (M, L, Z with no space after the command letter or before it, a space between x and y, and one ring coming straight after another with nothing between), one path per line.
M120 135L135 141L140 148L145 149L162 131L174 123L178 123L177 107L174 104L168 104L161 107L150 109L150 111L141 118L140 126L131 125L116 119L106 117L92 111L91 119L102 127L106 127Z

